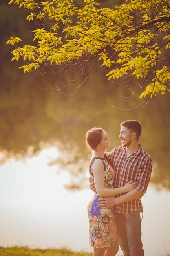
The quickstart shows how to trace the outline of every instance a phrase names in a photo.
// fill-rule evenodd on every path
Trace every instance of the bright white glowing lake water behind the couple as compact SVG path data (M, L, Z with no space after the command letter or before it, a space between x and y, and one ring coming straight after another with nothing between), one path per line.
M48 148L36 157L10 159L0 166L0 246L66 246L92 252L86 207L93 192L64 189L69 175L48 165L56 155L56 148ZM150 185L142 203L145 256L166 256L170 253L170 191L158 192Z

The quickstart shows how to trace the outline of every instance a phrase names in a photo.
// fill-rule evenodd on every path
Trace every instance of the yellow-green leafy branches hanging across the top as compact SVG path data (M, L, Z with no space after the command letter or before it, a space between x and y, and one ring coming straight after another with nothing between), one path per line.
M134 77L146 101L170 91L170 0L126 0L113 9L80 2L11 0L38 25L33 45L18 47L18 37L7 41L16 45L12 60L22 58L24 72L43 76L73 71L72 82L99 61L109 80Z

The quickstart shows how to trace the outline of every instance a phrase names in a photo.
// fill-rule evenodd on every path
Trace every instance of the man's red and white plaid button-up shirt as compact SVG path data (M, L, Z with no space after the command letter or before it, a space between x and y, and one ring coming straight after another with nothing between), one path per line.
M148 153L139 144L139 149L126 159L126 148L121 146L113 148L109 158L113 162L115 170L114 184L115 188L124 186L127 182L133 180L137 182L137 189L142 195L147 190L152 171L152 159ZM125 193L117 194L114 197L124 195ZM115 205L115 211L118 213L132 213L137 209L143 211L140 198Z

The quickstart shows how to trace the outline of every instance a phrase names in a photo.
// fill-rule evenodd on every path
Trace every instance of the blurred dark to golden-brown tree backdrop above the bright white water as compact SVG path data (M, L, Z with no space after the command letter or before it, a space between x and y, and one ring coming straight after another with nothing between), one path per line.
M114 4L122 2L114 1ZM101 0L101 3L110 7L113 1ZM24 156L29 146L36 153L41 149L41 141L51 144L57 141L62 157L51 164L60 164L73 176L83 177L89 159L84 144L86 131L93 126L106 129L111 150L120 145L120 122L137 119L143 127L139 143L154 163L152 182L169 189L170 94L151 99L145 108L113 109L112 106L133 108L137 103L126 98L129 95L124 92L123 81L121 87L116 81L108 81L106 73L96 66L96 72L76 94L66 97L50 88L41 77L23 74L18 69L20 63L11 61L13 47L6 45L7 40L10 36L22 36L23 43L29 43L33 35L28 31L35 24L26 22L24 9L7 5L6 0L1 0L0 9L0 150L6 151L6 157L11 153ZM66 77L63 72L48 79L55 84L64 83ZM70 170L68 166L73 168Z

